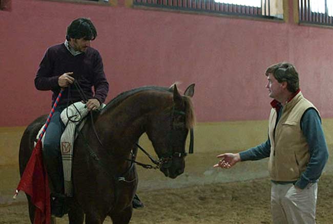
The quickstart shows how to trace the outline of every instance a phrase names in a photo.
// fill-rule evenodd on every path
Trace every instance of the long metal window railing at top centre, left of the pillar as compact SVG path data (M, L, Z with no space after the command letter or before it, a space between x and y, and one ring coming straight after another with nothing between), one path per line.
M227 15L241 15L281 19L272 15L270 0L262 0L261 7L219 3L214 0L133 0L133 5L168 8L184 11L199 11Z

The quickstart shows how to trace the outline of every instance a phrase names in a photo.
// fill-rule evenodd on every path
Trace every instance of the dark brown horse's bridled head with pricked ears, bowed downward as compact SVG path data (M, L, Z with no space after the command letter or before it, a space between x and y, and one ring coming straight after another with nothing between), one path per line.
M194 125L191 97L194 84L186 88L181 96L176 85L170 89L173 96L160 102L166 109L149 116L147 135L160 159L160 170L165 176L176 178L184 172L185 142Z

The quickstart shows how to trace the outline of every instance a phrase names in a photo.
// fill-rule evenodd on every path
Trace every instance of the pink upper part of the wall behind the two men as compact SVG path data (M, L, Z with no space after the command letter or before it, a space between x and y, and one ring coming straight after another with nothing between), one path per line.
M90 17L110 82L107 101L142 85L196 83L199 122L262 120L269 114L264 71L294 63L303 94L333 118L332 29L248 19L40 0L0 11L0 126L29 124L50 109L34 88L46 48L63 42L70 21Z

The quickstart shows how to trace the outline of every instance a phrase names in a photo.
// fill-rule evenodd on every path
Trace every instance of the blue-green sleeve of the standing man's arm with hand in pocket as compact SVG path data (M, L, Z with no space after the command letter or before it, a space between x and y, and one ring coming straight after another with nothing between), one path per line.
M328 160L328 149L317 110L310 108L305 111L301 119L301 129L309 147L310 159L295 185L304 189L320 177Z

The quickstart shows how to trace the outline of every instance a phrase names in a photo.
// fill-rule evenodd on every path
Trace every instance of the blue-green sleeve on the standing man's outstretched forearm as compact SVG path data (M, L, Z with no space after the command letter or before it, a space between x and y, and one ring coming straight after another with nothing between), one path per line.
M267 139L266 142L239 153L241 161L261 160L266 157L269 157L269 154L270 154L269 138Z

